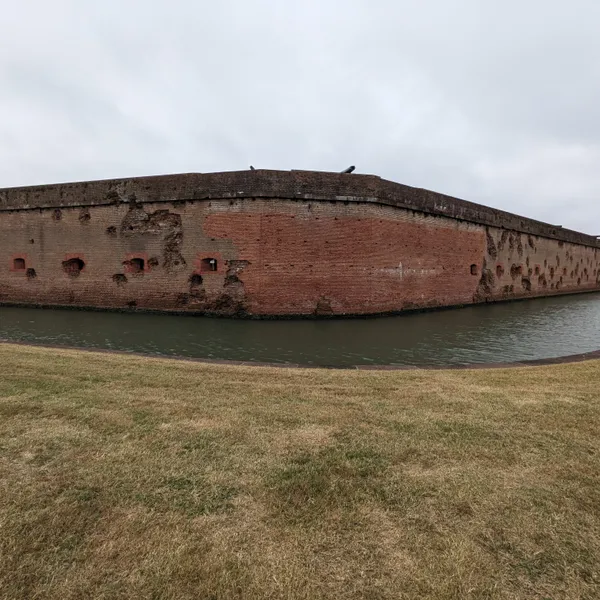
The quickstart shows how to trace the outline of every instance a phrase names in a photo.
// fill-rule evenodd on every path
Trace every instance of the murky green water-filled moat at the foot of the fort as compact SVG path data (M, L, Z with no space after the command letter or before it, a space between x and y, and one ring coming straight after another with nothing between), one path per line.
M516 362L600 349L600 294L317 321L2 307L0 339L336 367Z

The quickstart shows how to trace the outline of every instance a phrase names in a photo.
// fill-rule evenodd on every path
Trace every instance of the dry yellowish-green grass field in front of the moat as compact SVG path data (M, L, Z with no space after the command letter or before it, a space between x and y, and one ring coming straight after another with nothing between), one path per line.
M600 598L600 361L0 344L0 597Z

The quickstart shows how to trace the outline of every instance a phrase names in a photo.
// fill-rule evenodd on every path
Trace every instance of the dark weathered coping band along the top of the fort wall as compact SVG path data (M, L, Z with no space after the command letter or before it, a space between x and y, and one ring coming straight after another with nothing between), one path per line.
M5 188L0 189L0 212L244 198L383 204L574 244L600 247L600 241L595 236L422 188L395 183L376 175L321 171L257 169Z

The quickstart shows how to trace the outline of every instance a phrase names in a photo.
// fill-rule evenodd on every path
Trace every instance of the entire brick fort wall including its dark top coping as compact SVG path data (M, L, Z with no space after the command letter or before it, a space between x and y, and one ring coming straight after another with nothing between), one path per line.
M355 315L600 290L592 236L374 176L0 190L0 303Z

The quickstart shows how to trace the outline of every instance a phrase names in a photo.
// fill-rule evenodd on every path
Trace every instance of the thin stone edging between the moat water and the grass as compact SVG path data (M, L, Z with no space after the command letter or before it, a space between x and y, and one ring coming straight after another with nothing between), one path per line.
M190 356L164 356L156 354L145 354L143 352L128 352L125 350L110 350L107 348L83 348L77 346L61 346L59 344L44 344L40 342L22 342L0 338L0 344L14 346L31 346L33 348L47 348L51 350L70 350L88 354L118 354L121 356L137 356L151 360L174 360L195 362L206 365L225 365L237 367L271 367L278 369L327 369L327 370L358 370L358 371L447 371L447 370L469 370L469 369L513 369L518 367L540 367L544 365L558 365L565 363L577 363L587 360L600 360L600 350L592 352L583 352L581 354L570 354L568 356L558 356L553 358L538 358L534 360L523 360L515 362L500 363L469 363L459 365L353 365L353 366L322 366L322 365L301 365L296 363L269 363L248 360L220 360L210 358L194 358Z

